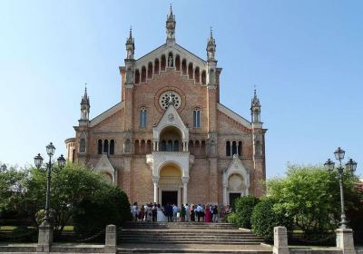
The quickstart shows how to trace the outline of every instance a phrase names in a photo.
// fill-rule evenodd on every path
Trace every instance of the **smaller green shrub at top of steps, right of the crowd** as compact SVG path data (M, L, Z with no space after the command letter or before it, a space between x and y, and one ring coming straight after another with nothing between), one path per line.
M255 206L260 202L259 198L254 196L240 197L234 201L236 221L240 227L250 229L250 216Z

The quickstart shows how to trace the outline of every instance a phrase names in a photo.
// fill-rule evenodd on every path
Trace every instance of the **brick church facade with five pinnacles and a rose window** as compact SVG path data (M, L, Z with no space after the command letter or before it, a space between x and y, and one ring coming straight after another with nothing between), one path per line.
M266 129L256 91L250 121L221 104L212 33L203 60L176 44L175 25L171 8L166 43L139 59L130 30L121 102L90 120L85 90L67 159L103 173L132 202L226 205L261 196Z

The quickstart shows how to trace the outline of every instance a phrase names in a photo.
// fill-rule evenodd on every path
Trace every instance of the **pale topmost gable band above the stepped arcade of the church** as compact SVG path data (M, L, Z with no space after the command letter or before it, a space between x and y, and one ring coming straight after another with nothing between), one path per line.
M167 57L169 52L172 52L172 54L175 57L175 54L179 54L182 58L188 59L189 62L193 62L194 65L199 65L200 67L206 65L206 62L201 59L201 57L192 54L190 51L184 49L179 44L162 44L158 48L154 49L152 52L148 54L144 54L142 57L136 60L135 67L141 67L142 65L147 66L149 62L152 62L155 60L155 58L160 58L162 54L165 54Z

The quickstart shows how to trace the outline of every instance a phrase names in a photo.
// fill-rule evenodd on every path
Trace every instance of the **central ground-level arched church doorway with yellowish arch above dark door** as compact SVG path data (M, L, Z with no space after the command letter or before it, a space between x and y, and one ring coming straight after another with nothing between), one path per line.
M162 165L159 180L159 200L162 206L167 203L180 206L182 193L182 169L175 163Z

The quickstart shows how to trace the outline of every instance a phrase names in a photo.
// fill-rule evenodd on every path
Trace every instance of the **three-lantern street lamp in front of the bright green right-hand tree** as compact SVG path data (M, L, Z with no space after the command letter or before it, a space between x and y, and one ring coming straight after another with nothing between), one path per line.
M340 209L341 209L341 215L340 215L341 220L339 227L340 229L348 229L346 213L344 211L344 193L343 193L344 167L341 163L341 161L344 159L345 153L346 151L342 150L340 147L338 147L338 149L334 151L335 159L339 161L337 171L338 171L338 180L339 180L339 189L340 189ZM335 165L334 161L331 161L330 159L328 159L328 161L324 163L325 169L327 169L329 172L334 171L335 169L334 165ZM352 159L349 159L349 161L346 163L345 169L346 171L350 171L353 174L354 171L356 171L357 169L357 162L353 161Z

